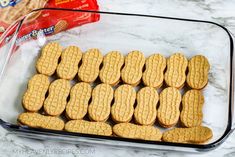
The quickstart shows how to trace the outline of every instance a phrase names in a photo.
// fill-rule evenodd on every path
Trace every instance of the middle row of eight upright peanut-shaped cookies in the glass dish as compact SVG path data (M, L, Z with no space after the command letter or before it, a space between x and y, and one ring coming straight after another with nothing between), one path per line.
M48 76L36 74L29 80L22 103L27 111L37 112L43 107L51 116L59 116L65 110L68 119L82 119L88 113L91 120L104 122L111 114L115 122L123 123L129 122L134 115L141 125L152 125L158 119L163 127L171 127L180 118L183 126L193 127L202 123L204 97L200 90L187 91L180 114L181 94L174 87L165 88L160 96L152 87L144 87L136 94L134 87L127 84L114 91L110 85L102 83L92 90L85 82L71 88L68 80L57 79L50 83Z

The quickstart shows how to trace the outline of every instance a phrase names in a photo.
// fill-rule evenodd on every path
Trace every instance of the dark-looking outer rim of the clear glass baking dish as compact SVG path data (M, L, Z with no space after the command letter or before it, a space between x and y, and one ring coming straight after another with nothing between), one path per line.
M90 135L90 134L82 134L82 133L71 133L65 131L56 131L56 130L48 130L42 128L30 128L25 126L19 126L15 124L8 123L0 118L0 125L8 131L16 131L16 132L24 132L24 133L34 133L37 132L41 133L51 133L57 135L66 135L66 136L82 136L94 139L104 139L104 140L112 140L112 141L124 141L124 142L135 142L135 143L142 143L142 144L156 144L162 146L176 146L176 147L187 147L187 148L195 148L199 150L211 150L212 148L217 148L220 144L222 144L225 139L235 130L232 128L233 122L233 107L234 107L234 72L233 72L233 58L234 58L234 41L231 32L224 26L207 20L196 20L196 19L188 19L188 18L178 18L178 17L168 17L168 16L157 16L157 15L146 15L146 14L133 14L133 13L121 13L121 12L108 12L108 11L94 11L94 10L79 10L79 9L67 9L67 8L40 8L35 9L29 14L22 17L16 23L18 23L16 31L14 32L14 36L16 36L24 22L24 19L33 12L42 11L42 10L56 10L56 11L71 11L71 12L88 12L88 13L97 13L97 14L109 14L109 15L121 15L121 16L133 16L133 17L148 17L148 18L155 18L155 19L168 19L168 20L177 20L177 21L186 21L186 22L195 22L195 23L206 23L212 24L219 28L221 28L225 33L228 35L229 44L230 44L230 71L229 71L229 105L228 105L228 123L227 127L223 133L223 135L217 139L216 141L209 143L209 144L188 144L188 143L171 143L171 142L162 142L162 141L145 141L145 140L138 140L138 139L128 139L128 138L120 138L120 137L109 137L109 136L99 136L99 135ZM16 24L15 23L15 24ZM14 25L15 25L14 24ZM7 32L7 31L6 31ZM2 37L4 38L5 33L3 33ZM0 37L0 39L2 38ZM3 40L0 40L3 41ZM15 42L13 43L13 45ZM47 134L49 135L49 134Z

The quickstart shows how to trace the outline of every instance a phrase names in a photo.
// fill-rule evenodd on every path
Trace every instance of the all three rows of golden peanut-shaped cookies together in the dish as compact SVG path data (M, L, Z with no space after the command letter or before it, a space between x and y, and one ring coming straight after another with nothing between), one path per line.
M210 69L202 55L188 60L175 53L166 59L135 50L103 56L96 48L83 53L51 42L36 69L22 99L20 125L180 143L212 137L202 126L202 89Z

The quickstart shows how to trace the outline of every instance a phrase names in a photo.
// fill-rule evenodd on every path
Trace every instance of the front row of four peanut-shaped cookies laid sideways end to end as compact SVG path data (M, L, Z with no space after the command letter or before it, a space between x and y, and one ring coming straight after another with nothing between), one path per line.
M154 126L141 126L132 123L119 123L111 127L111 125L105 122L70 120L65 124L64 121L58 117L30 112L20 114L18 123L34 128L177 143L204 143L213 136L211 129L204 126L174 128L162 133Z

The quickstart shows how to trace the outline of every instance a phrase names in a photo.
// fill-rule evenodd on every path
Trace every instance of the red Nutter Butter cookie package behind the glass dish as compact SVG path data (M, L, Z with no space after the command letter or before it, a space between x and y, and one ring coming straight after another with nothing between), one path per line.
M21 27L17 42L36 37L38 31L43 31L45 35L52 35L99 20L98 13L65 12L57 9L53 11L53 8L98 11L99 6L96 0L0 0L0 36L16 20L39 8L52 9L31 13ZM11 39L14 31L15 29L12 29L4 35L6 37L4 43Z

